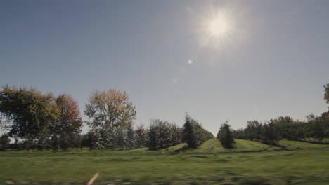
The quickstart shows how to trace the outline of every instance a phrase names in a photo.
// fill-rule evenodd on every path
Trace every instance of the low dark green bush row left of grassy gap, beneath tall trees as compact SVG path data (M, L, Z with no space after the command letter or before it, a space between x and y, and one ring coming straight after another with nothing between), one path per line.
M211 132L202 128L202 125L191 116L186 116L186 123L180 128L174 123L162 120L152 120L149 128L138 126L114 130L112 134L103 130L90 130L86 135L61 135L56 144L60 149L84 148L90 149L136 149L148 147L151 150L165 149L170 146L186 142L189 147L196 148L203 142L214 137ZM108 139L110 142L105 142ZM39 140L41 141L41 140ZM8 135L0 138L0 150L4 149L54 149L52 137L42 139L39 142L29 140L17 141L9 144ZM107 146L111 144L111 146ZM58 149L58 148L56 148Z

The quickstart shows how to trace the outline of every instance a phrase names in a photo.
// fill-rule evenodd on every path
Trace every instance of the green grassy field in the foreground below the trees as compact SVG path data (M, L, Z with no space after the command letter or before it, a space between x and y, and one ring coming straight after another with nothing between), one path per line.
M329 145L280 141L282 147L210 139L148 151L0 152L0 184L329 184Z

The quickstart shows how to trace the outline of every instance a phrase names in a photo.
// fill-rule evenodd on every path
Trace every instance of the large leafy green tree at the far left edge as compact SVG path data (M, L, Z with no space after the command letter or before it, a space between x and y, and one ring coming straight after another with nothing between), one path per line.
M0 116L4 118L1 125L9 131L10 137L25 139L30 146L49 139L58 110L51 93L43 95L34 88L6 85L0 92Z

